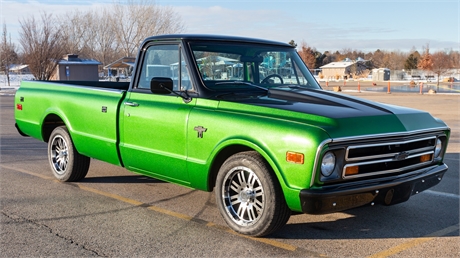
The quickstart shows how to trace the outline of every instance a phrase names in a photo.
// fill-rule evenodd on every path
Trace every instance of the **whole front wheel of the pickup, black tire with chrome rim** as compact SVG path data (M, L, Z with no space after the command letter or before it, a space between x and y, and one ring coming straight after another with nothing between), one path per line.
M275 174L255 151L237 153L224 162L215 194L227 225L244 235L273 233L291 215Z

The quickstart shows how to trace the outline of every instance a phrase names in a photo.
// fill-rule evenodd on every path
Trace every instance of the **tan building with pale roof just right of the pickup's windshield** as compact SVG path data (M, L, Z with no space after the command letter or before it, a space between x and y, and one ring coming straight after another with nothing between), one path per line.
M351 61L346 58L341 62L332 62L320 67L321 73L325 79L349 79L353 75L359 75L368 67L365 65L365 60L358 58L357 61Z

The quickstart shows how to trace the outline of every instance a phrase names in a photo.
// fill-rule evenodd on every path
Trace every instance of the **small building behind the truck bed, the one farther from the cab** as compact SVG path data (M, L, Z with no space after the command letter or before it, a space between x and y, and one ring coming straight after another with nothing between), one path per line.
M59 60L51 80L57 81L98 81L98 66L102 63L93 59L80 59L69 54Z

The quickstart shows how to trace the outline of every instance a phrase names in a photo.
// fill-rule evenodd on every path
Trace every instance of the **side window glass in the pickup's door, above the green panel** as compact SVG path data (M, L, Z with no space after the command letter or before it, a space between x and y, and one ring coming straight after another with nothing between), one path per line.
M190 76L185 65L183 55L179 55L179 45L155 45L148 47L137 88L150 89L153 77L171 78L174 83L173 90L191 89ZM182 60L180 62L180 59ZM181 67L179 64L182 63Z

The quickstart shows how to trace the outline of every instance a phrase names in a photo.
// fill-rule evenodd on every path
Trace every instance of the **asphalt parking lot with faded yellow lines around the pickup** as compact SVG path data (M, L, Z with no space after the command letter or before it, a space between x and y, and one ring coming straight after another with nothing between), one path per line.
M87 178L60 183L46 143L14 128L0 96L2 257L459 257L460 95L343 94L417 108L452 130L441 183L395 206L296 215L266 238L233 233L214 194L92 160Z

